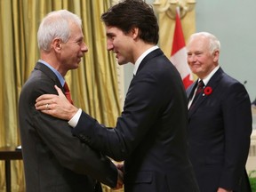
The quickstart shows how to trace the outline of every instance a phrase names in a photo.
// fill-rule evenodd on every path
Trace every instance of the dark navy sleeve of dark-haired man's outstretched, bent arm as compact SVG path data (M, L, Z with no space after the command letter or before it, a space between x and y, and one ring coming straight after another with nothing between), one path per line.
M157 80L156 80L157 79ZM156 124L159 111L164 105L159 95L171 100L161 77L156 74L141 74L133 78L127 92L124 111L117 119L115 128L102 127L95 119L82 113L73 130L77 138L100 150L116 161L123 161L137 148L141 140Z

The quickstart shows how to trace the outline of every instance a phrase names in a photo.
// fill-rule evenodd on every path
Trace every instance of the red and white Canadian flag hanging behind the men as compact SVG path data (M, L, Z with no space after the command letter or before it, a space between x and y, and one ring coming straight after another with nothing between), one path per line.
M171 61L180 72L180 76L182 78L185 89L187 89L188 86L193 83L193 75L190 68L188 67L186 44L182 32L179 13L180 10L177 9L176 24L172 41Z

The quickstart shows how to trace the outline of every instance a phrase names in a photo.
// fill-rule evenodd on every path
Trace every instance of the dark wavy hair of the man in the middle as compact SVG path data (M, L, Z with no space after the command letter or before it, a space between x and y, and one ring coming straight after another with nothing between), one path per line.
M159 27L153 7L143 0L123 0L110 7L100 18L106 26L120 28L127 34L132 28L140 29L140 39L157 44Z

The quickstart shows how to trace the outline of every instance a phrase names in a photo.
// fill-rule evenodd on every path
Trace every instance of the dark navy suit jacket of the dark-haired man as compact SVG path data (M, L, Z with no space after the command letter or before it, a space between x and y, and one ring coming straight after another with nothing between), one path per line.
M74 134L116 161L125 161L126 192L195 192L187 120L180 74L156 49L141 61L116 128L102 128L83 112Z

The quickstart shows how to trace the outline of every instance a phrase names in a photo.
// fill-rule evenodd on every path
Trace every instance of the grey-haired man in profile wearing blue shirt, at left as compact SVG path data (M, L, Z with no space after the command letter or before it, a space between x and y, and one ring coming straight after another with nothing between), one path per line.
M81 19L66 10L50 12L40 24L37 39L41 59L22 87L19 100L26 191L101 191L96 180L116 188L117 169L108 157L74 137L67 121L35 108L38 96L57 94L55 84L68 92L64 76L78 68L88 51Z

